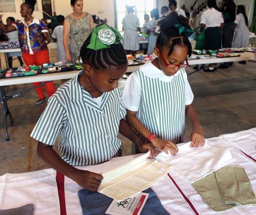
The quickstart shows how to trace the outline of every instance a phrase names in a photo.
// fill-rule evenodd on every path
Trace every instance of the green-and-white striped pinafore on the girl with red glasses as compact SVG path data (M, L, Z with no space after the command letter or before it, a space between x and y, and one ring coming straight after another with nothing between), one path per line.
M185 78L184 69L171 81L150 78L136 71L141 87L141 102L137 118L158 138L175 144L184 142L185 136ZM146 142L145 138L141 137ZM132 154L139 153L132 143Z

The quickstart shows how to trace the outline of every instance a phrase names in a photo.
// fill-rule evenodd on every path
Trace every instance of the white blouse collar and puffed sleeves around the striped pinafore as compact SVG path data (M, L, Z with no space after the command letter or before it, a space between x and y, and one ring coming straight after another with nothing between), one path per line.
M151 62L141 65L139 70L150 78L158 78L163 82L171 82L175 76L179 73L186 73L185 69L180 69L176 74L172 76L167 76L162 70L159 70ZM185 78L185 105L189 105L193 102L194 95L191 90L190 84L187 80L187 75L183 76ZM160 92L163 89L159 89ZM122 100L125 108L130 111L138 111L141 101L141 87L136 73L132 73L127 78L125 83L124 92L122 94Z

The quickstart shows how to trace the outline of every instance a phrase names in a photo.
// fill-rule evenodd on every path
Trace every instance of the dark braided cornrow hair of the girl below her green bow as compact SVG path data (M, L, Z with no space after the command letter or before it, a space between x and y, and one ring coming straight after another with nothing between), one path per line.
M94 68L107 68L111 65L127 65L127 57L121 42L119 44L111 44L110 48L93 50L86 48L91 39L91 34L83 43L80 49L80 57L83 63L87 63Z

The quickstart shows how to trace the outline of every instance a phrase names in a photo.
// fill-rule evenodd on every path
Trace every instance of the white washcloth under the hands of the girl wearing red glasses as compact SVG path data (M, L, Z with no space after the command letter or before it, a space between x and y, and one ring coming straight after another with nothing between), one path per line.
M161 152L156 159L173 166L184 179L193 183L226 166L233 157L229 150L209 145L190 148L190 142L178 145L179 153L175 156Z

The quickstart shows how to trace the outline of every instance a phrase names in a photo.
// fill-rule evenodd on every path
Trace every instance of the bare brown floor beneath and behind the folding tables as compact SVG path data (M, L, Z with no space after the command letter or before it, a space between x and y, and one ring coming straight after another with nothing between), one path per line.
M51 50L52 62L56 62L56 52ZM4 66L3 54L0 55ZM18 66L15 60L13 66ZM228 69L218 69L214 73L198 71L188 80L194 92L196 107L206 138L220 134L246 130L256 127L256 64L234 63ZM187 68L187 73L193 71ZM0 80L1 81L1 80ZM54 81L57 88L65 80ZM120 80L123 88L125 79ZM5 87L11 95L32 87L32 84ZM8 106L14 124L8 120L10 141L5 140L3 114L0 114L0 175L7 172L19 173L48 168L37 156L37 142L29 137L46 103L35 106L35 90L9 100ZM186 137L189 140L191 125L186 124ZM120 136L121 137L121 136ZM131 142L121 137L125 155L129 154Z

